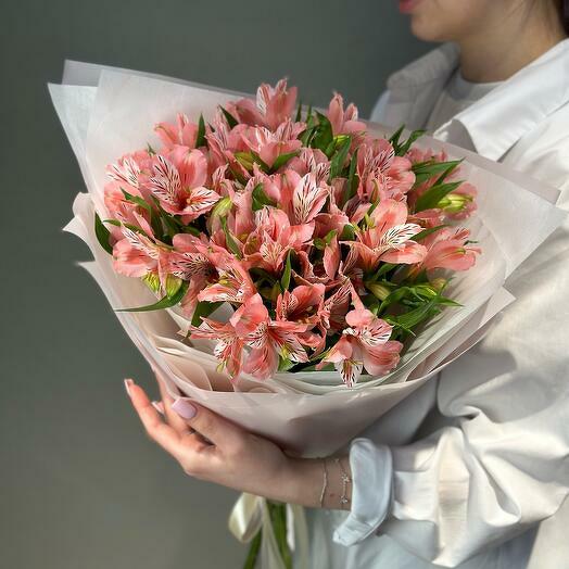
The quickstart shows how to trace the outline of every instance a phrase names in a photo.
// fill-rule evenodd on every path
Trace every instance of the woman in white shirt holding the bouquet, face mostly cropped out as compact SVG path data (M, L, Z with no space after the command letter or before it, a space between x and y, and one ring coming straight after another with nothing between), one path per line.
M401 0L400 9L419 38L454 43L392 76L371 118L427 127L549 182L569 210L560 3ZM503 319L341 460L327 460L326 484L321 461L290 458L206 408L173 402L162 385L154 406L131 380L127 391L148 433L189 475L315 508L312 568L569 567L560 529L569 521L569 222L506 288L517 302Z

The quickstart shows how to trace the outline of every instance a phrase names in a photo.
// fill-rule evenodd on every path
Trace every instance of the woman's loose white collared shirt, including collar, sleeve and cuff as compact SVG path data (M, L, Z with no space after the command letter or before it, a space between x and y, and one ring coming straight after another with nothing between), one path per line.
M452 45L412 63L371 119L425 127L456 68ZM569 211L569 40L434 136L549 182ZM569 220L506 288L489 334L352 442L352 511L307 513L313 569L569 567Z

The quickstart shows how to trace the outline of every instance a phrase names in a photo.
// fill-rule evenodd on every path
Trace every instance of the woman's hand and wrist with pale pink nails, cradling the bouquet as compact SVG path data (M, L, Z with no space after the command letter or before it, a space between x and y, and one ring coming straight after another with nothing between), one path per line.
M210 409L184 399L174 401L156 376L162 404L153 404L131 379L127 393L149 437L201 480L279 502L317 507L324 472L319 459L292 458L267 439L252 434ZM160 410L160 413L159 413ZM326 507L341 507L336 463L327 464Z

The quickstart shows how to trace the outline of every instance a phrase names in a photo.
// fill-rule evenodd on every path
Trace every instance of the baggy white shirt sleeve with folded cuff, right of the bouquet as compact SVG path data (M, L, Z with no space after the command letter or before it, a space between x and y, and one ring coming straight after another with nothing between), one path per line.
M558 204L569 208L568 202L566 188ZM506 288L516 302L440 375L444 426L401 446L354 441L352 511L337 542L354 544L377 531L417 557L456 567L562 505L569 493L567 219Z

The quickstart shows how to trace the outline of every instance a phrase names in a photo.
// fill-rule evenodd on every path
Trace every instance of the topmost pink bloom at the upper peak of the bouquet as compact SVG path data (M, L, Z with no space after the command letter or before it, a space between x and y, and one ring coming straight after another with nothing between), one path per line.
M280 79L275 87L262 84L257 89L256 101L241 99L236 110L242 123L251 126L265 126L276 130L290 118L296 104L296 87L287 89L287 79Z

